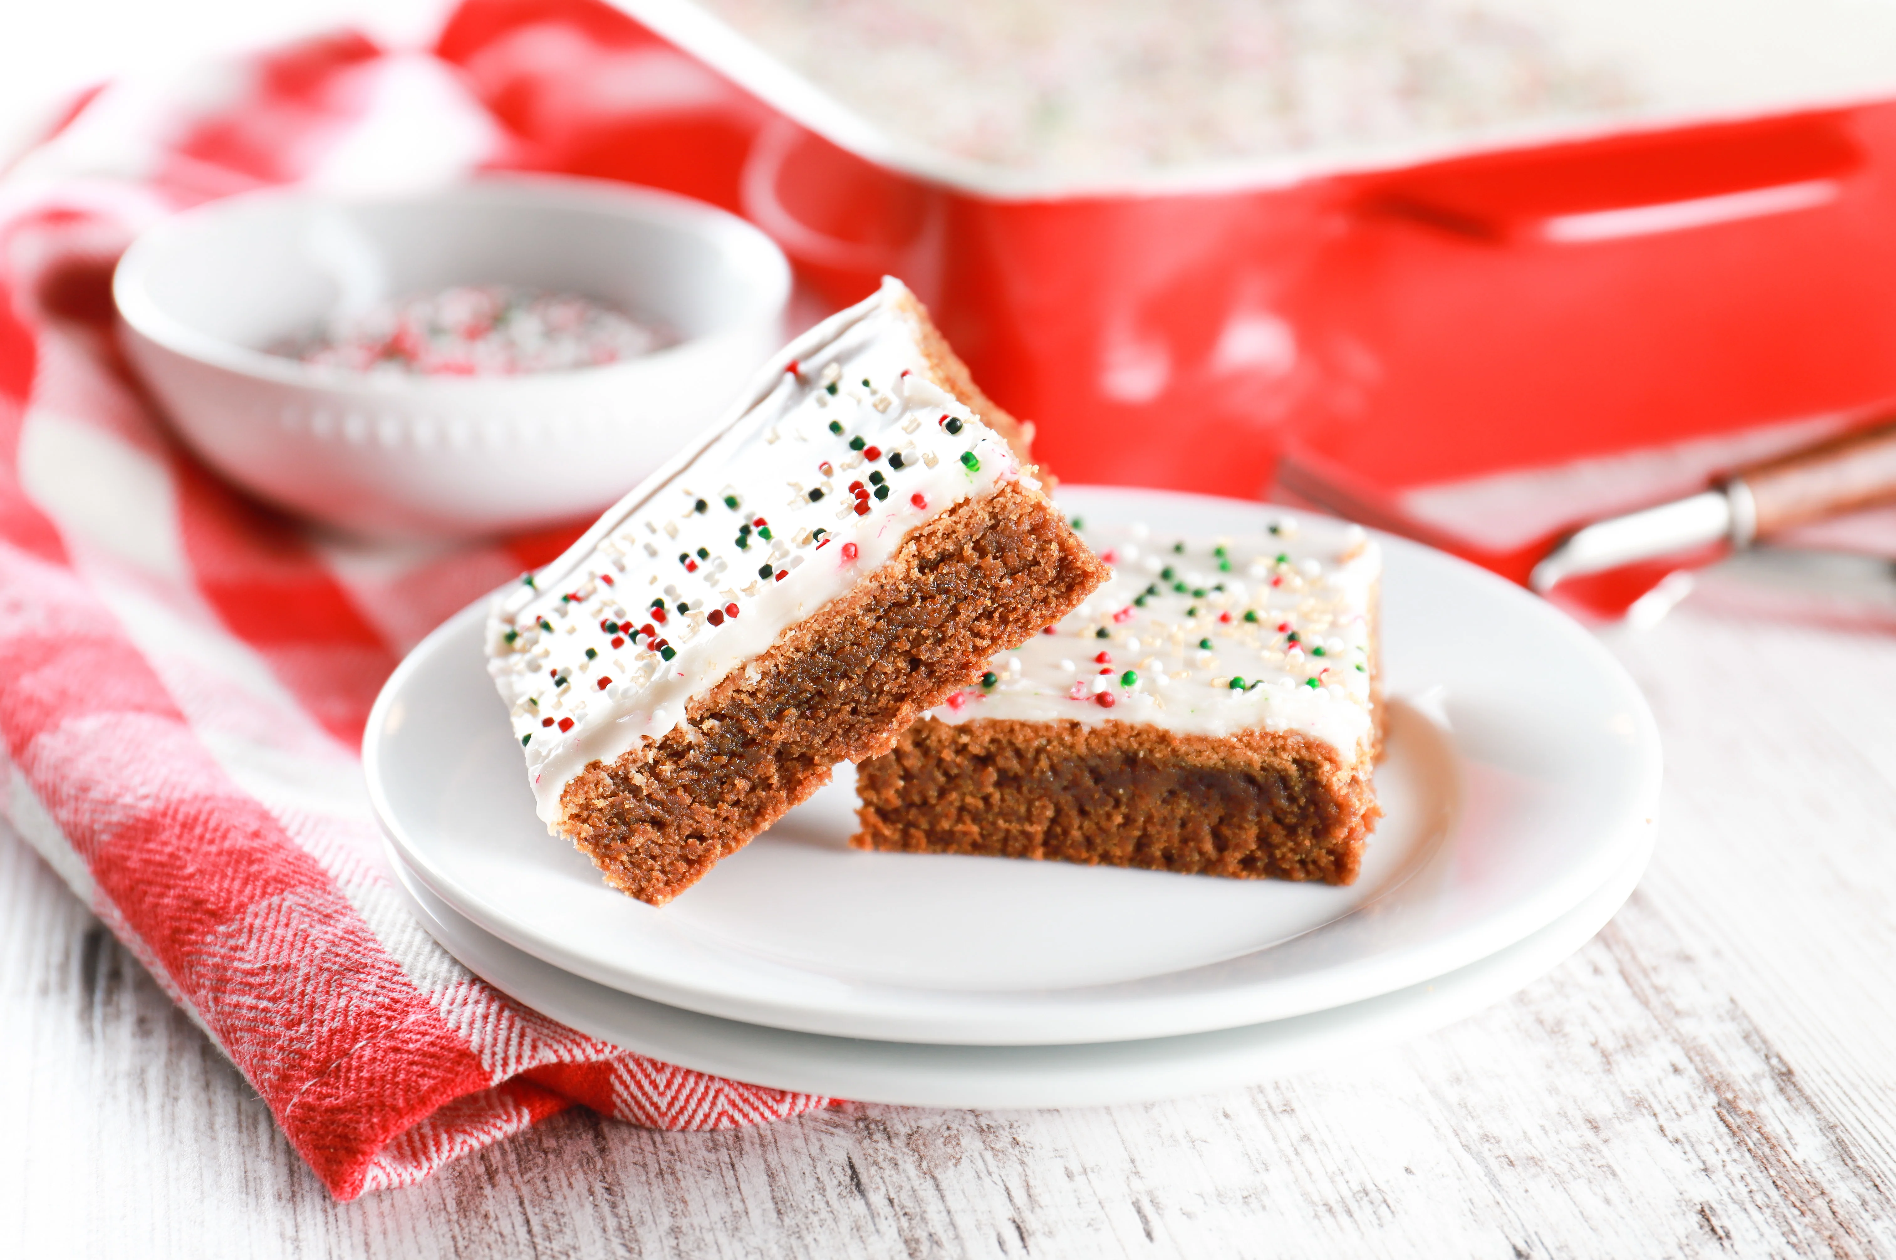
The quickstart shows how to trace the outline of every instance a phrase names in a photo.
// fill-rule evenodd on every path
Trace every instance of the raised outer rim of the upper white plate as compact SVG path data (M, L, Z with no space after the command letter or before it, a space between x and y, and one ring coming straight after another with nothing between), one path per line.
M1060 502L1067 510L1098 512L1096 506L1100 498L1115 500L1149 500L1170 506L1198 508L1198 510L1244 510L1244 512L1267 512L1270 508L1289 510L1304 517L1323 517L1320 512L1310 512L1304 508L1285 508L1280 504L1265 504L1255 500L1223 498L1213 495L1189 495L1177 491L1149 491L1136 487L1062 487ZM1333 517L1327 517L1333 519ZM1236 985L1234 989L1225 989L1217 993L1198 993L1198 995L1172 995L1143 997L1136 1006L1145 1012L1139 1019L1143 1031L1121 1031L1121 1033L1102 1033L1107 1025L1124 1025L1130 1021L1128 1016L1102 1017L1098 1010L1086 1008L1075 1012L1073 1008L1060 1008L1062 1021L1069 1029L1067 1033L1048 1035L1045 1027L1041 1031L1005 1031L999 1025L1009 1021L1018 1021L1020 1012L1007 1012L1003 1016L988 1016L986 1019L969 1019L965 1012L961 1014L889 1014L863 1010L857 1002L830 1000L829 1004L817 1004L808 1000L777 1000L770 995L757 993L734 993L717 991L707 987L692 987L688 983L677 983L664 976L637 974L637 972L614 972L611 968L601 968L593 959L573 951L563 945L557 938L544 932L533 930L531 925L521 923L508 915L506 908L491 906L485 896L476 892L459 881L453 872L442 870L438 862L430 860L425 847L415 845L413 839L400 826L400 815L392 809L389 801L389 792L383 783L381 773L381 739L387 726L389 707L398 703L404 693L406 684L413 675L427 667L436 652L440 652L449 640L466 633L468 621L474 621L485 614L487 601L491 595L483 595L459 610L440 627L430 631L396 667L389 676L381 693L375 697L375 705L370 711L368 726L362 737L362 767L364 779L368 783L368 796L372 809L375 813L377 826L383 837L394 845L398 853L406 858L410 870L434 892L442 902L451 906L457 913L465 915L482 930L493 934L501 942L521 949L556 968L582 976L593 983L601 983L611 989L629 993L647 1000L662 1002L665 1006L677 1006L692 1010L703 1016L734 1019L741 1023L757 1023L764 1027L777 1027L789 1031L800 1031L808 1035L836 1035L866 1040L895 1040L895 1042L956 1042L956 1044L1048 1044L1052 1040L1066 1042L1103 1042L1103 1040L1139 1040L1160 1035L1189 1035L1212 1029L1229 1029L1259 1023L1265 1019L1282 1019L1301 1014L1310 1014L1318 1010L1337 1008L1350 1002L1365 1000L1380 993L1390 993L1411 983L1426 981L1431 976L1439 976L1458 966L1466 966L1481 957L1486 957L1498 949L1524 940L1547 923L1559 919L1562 913L1572 909L1587 892L1615 870L1627 853L1638 845L1638 834L1651 824L1657 817L1659 805L1659 786L1663 779L1663 750L1659 743L1657 722L1651 714L1651 707L1646 703L1644 693L1638 684L1631 678L1625 667L1600 644L1593 635L1589 635L1579 623L1572 621L1566 614L1555 610L1534 595L1522 591L1511 582L1498 578L1468 561L1454 555L1426 548L1407 538L1384 534L1380 531L1371 531L1371 534L1390 551L1390 553L1409 553L1424 563L1445 563L1454 570L1460 570L1464 578L1488 585L1498 591L1502 599L1522 601L1521 606L1532 606L1536 612L1532 616L1541 618L1543 625L1560 635L1566 642L1576 646L1581 656L1591 657L1593 663L1602 669L1608 678L1621 684L1625 697L1631 701L1631 712L1634 720L1634 731L1631 743L1642 756L1634 760L1636 783L1629 784L1627 803L1619 811L1619 819L1612 826L1602 826L1596 836L1600 837L1595 845L1593 855L1581 862L1574 872L1568 872L1564 879L1549 881L1549 887L1538 889L1536 892L1519 898L1515 904L1496 909L1471 925L1462 925L1460 928L1449 930L1418 945L1411 945L1395 955L1371 955L1342 964L1325 968L1320 972L1322 983L1314 983L1316 972L1306 972L1303 976L1285 976L1249 981L1248 985ZM502 587L504 589L504 587ZM1576 892L1576 889L1579 889ZM1352 911L1354 913L1354 911ZM1348 919L1350 915L1344 915ZM1322 930L1322 928L1318 928ZM1477 944L1479 942L1479 944ZM1249 955L1242 955L1249 957ZM1189 970L1189 968L1187 968ZM853 993L870 991L876 985L851 983L844 985ZM1047 995L1062 993L1081 993L1088 987L1098 985L1071 985L1064 989L1047 991ZM920 993L920 991L918 991ZM942 1002L948 993L944 991L925 991L927 1000ZM1301 997L1299 997L1301 993ZM973 997L973 995L969 995ZM999 997L999 995L988 995ZM1236 1010L1238 1014L1232 1014ZM1223 1014L1219 1014L1223 1012ZM1090 1014L1090 1017L1086 1017ZM1043 1019L1045 1025L1045 1019Z

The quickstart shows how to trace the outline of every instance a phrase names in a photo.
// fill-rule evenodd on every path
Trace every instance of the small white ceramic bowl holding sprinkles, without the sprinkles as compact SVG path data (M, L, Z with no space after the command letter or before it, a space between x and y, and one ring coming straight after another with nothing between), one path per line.
M457 284L578 292L669 328L618 364L510 377L319 368L264 347ZM483 176L432 193L245 193L169 218L112 280L125 352L184 440L356 534L474 536L601 512L783 343L791 271L734 214L624 184Z

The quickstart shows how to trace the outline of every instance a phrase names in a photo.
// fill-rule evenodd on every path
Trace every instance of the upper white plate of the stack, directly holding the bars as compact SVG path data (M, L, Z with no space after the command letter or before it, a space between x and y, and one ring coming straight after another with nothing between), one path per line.
M1261 529L1265 508L1066 489L1094 519ZM1468 966L1574 909L1644 843L1659 737L1577 625L1384 538L1386 817L1350 889L855 853L848 775L664 908L607 889L533 815L480 608L370 716L375 813L455 911L637 997L804 1033L1035 1046L1234 1029Z

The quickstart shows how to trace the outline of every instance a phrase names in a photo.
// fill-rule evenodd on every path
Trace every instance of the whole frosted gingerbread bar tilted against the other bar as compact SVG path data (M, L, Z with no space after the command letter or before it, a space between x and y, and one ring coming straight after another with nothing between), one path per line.
M497 599L487 667L548 830L662 904L887 750L1105 567L895 280Z

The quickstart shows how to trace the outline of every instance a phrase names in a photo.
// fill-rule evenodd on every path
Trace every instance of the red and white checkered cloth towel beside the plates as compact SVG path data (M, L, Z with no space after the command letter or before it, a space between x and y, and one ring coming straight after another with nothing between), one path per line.
M283 180L557 165L548 136L584 138L567 106L586 78L554 70L586 49L624 68L637 38L603 9L548 13L465 8L485 68L341 36L114 83L0 180L0 813L343 1199L574 1103L669 1129L827 1105L559 1027L463 970L396 900L356 758L368 707L436 621L573 531L459 549L322 540L207 474L114 349L112 263L167 210ZM607 17L618 34L599 44L584 23ZM535 74L565 97L521 95ZM491 112L497 93L535 117Z

